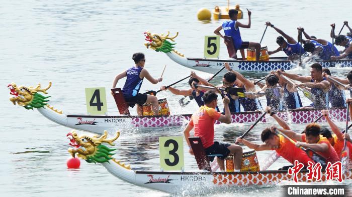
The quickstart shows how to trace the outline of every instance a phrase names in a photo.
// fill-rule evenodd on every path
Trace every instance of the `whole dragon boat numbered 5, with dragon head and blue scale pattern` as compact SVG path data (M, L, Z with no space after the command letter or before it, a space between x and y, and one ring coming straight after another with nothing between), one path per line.
M236 71L273 71L277 69L290 70L295 68L297 62L287 61L287 57L271 57L269 61L243 61L236 60L234 58L216 58L216 59L205 59L205 58L186 58L184 54L173 49L175 43L174 39L179 35L177 32L175 36L169 37L169 32L164 36L163 34L152 34L150 32L144 32L145 43L147 48L151 48L156 52L165 53L174 62L185 66L190 69L199 70L207 73L216 73L222 67L225 62L228 62L233 70ZM326 60L319 62L322 67L352 67L352 60ZM225 73L225 71L222 71Z

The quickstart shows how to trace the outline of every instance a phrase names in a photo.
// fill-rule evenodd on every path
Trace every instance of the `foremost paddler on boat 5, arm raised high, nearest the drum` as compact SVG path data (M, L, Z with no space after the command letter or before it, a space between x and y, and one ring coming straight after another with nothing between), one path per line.
M279 51L283 51L288 56L287 60L297 60L299 58L300 53L301 53L301 55L306 54L303 47L295 39L293 39L291 36L285 34L282 30L275 27L269 21L266 22L266 25L272 27L275 31L277 31L279 34L281 34L281 36L278 36L278 38L276 39L276 43L280 47L278 49L276 49L275 51L269 51L268 52L269 55L272 55L272 54L277 53Z

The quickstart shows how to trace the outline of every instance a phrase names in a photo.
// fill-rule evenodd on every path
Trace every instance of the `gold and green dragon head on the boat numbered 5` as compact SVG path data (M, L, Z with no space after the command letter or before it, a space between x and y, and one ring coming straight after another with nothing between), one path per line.
M159 52L159 51L164 53L171 52L174 48L173 45L175 45L175 43L170 43L168 40L174 42L173 39L176 38L179 35L179 33L177 32L176 35L173 37L168 37L169 34L170 32L167 32L167 34L164 36L163 34L160 34L160 35L151 34L150 32L146 31L144 32L145 41L146 41L144 45L147 48L150 47L156 52Z

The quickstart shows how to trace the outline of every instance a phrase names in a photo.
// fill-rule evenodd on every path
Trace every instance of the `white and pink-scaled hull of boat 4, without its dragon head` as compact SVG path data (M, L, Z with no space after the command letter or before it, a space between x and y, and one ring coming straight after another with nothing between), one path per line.
M191 118L191 114L169 115L169 116L105 116L105 115L64 115L59 114L50 107L39 108L41 114L48 119L73 129L94 132L99 134L104 130L115 131L131 128L160 128L175 127L186 125ZM331 117L337 122L345 121L346 108L331 108L329 110ZM254 122L261 112L240 112L231 115L233 123L250 123ZM294 124L305 124L313 122L321 115L317 109L298 109L291 111L278 112L278 116ZM266 122L266 119L262 119ZM324 120L321 120L324 121ZM220 124L220 122L216 122Z

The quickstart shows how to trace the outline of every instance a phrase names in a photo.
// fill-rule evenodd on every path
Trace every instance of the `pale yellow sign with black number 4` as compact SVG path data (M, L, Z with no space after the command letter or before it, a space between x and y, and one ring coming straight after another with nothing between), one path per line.
M104 115L108 111L105 88L85 88L85 100L89 115Z

